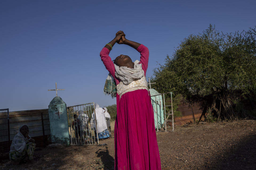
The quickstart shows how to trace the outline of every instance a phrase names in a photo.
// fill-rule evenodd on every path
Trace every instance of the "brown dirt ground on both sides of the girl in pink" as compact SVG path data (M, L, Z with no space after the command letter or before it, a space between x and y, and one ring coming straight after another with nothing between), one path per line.
M158 132L162 169L256 169L256 120L175 126ZM107 146L69 146L35 151L35 164L11 165L2 159L0 169L114 169L114 138Z

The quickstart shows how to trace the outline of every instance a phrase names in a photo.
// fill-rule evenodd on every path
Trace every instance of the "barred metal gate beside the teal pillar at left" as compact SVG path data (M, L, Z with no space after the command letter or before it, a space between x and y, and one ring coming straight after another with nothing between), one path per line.
M94 108L94 102L67 107L71 145L99 144Z

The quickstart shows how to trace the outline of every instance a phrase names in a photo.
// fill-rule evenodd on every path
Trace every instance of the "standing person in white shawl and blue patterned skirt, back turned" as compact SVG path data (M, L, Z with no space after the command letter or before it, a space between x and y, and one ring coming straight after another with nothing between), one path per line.
M97 130L98 130L99 139L108 138L109 131L107 130L107 123L106 123L104 110L100 108L97 103L95 103L95 113L96 113ZM92 117L92 122L93 122L94 130L96 130L94 114Z

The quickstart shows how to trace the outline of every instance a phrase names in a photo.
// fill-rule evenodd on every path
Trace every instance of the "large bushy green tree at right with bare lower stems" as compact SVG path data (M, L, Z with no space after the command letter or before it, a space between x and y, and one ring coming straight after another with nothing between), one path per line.
M247 97L256 92L255 28L223 34L210 24L202 33L190 35L154 70L153 80L159 82L154 87L182 94L190 102L192 96L205 102L203 97L211 94L210 111L234 120L234 91Z

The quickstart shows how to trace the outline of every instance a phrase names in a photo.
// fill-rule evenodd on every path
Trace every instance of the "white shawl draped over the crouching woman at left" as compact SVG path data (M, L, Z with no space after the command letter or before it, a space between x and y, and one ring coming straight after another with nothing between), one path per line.
M18 151L21 153L24 150L26 143L29 142L29 139L27 139L27 137L24 137L21 133L22 126L27 126L27 129L29 130L28 125L21 125L19 127L18 133L14 136L13 141L11 142L10 152ZM29 136L29 138L31 137Z

